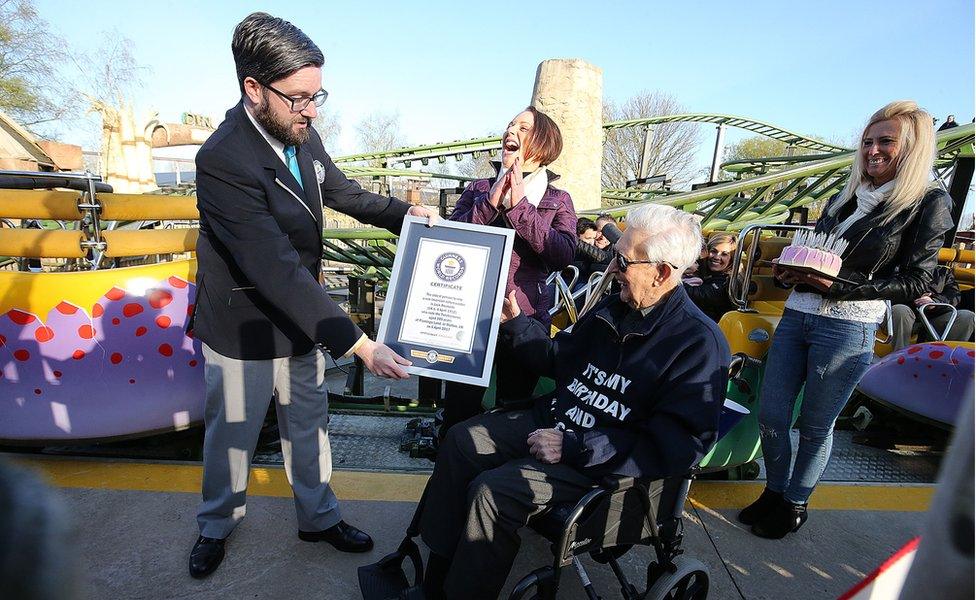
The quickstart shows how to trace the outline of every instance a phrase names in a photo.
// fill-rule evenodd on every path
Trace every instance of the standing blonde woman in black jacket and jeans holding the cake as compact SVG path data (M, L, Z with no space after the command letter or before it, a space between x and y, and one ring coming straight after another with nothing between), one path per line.
M759 437L766 488L738 519L765 538L782 538L807 520L807 500L820 480L834 423L871 365L885 300L910 303L929 287L952 200L931 180L932 117L914 102L888 104L861 134L851 177L831 198L816 231L848 242L845 281L774 267L796 286L776 327L760 392ZM793 406L800 443L792 473Z

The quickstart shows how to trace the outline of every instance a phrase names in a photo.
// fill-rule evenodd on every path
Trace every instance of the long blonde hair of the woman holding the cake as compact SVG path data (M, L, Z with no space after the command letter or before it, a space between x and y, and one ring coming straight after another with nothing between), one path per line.
M861 132L861 140L872 125L888 120L895 121L899 125L900 151L895 162L895 188L888 195L887 202L883 204L882 225L887 224L895 218L895 215L920 200L935 186L931 179L932 166L935 163L935 130L932 127L932 116L911 100L896 100L871 115L871 119ZM854 197L858 186L862 183L871 183L865 167L864 153L859 146L854 152L851 176L841 190L837 202L828 211L831 216L840 213L844 205Z

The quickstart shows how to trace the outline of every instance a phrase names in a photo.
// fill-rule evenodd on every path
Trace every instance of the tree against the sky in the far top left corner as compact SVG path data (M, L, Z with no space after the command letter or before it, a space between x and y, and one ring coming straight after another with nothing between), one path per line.
M76 108L62 66L69 53L29 0L0 0L0 110L37 133Z

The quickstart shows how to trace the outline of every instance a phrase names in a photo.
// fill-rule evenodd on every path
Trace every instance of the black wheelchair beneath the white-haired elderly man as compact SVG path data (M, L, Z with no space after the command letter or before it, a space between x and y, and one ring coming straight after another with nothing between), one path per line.
M590 555L609 565L625 600L708 596L708 569L683 556L682 511L697 469L659 481L611 477L600 482L575 505L547 508L529 527L550 543L552 564L535 569L512 589L509 600L555 599L566 567L573 566L587 597L601 598L580 562ZM633 546L651 546L655 559L647 567L647 585L640 591L627 580L619 558Z

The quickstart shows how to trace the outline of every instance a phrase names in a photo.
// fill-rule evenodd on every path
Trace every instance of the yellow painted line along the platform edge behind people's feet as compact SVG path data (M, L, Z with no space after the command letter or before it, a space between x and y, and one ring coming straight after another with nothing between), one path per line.
M62 488L199 494L203 475L200 465L12 458L41 472L51 485ZM335 471L331 483L343 500L416 502L427 478L427 474ZM762 489L761 482L700 480L691 488L690 501L701 508L736 509L758 498ZM247 493L287 498L291 497L291 487L282 467L254 467ZM932 485L822 483L810 500L810 508L922 512L928 510L934 493Z

